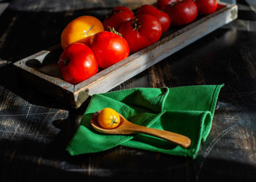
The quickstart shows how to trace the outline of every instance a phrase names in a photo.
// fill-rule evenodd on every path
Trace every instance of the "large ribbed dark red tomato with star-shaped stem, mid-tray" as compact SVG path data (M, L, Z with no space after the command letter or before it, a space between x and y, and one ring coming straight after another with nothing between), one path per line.
M123 23L118 32L127 40L129 51L137 52L160 39L162 26L157 17L141 14Z

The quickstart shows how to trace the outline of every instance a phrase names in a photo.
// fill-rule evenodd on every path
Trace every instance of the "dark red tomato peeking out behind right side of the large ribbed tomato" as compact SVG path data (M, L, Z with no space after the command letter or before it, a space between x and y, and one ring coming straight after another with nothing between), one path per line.
M170 27L170 17L165 12L162 12L151 5L145 4L141 6L137 11L137 15L140 14L150 14L157 17L157 19L162 25L162 33L167 31L168 28Z

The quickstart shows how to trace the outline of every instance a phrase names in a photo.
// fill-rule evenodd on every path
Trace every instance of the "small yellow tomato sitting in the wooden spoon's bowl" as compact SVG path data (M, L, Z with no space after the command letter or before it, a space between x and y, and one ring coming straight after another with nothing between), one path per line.
M103 108L99 111L98 123L105 129L118 127L120 124L120 116L113 108Z

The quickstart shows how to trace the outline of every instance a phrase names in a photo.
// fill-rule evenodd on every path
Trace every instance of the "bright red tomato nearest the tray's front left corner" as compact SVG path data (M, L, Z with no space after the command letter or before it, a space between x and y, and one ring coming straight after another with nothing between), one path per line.
M62 52L59 70L65 81L78 84L97 74L98 64L94 52L85 44L73 43Z

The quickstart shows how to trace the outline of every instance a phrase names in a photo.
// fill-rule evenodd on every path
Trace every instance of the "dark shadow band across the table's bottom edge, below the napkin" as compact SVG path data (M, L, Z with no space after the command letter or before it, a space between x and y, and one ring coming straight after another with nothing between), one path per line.
M82 155L66 160L45 157L31 160L14 158L1 171L3 181L255 181L256 169L252 165L206 159L200 173L197 160L180 159L143 151L122 149L100 155ZM152 157L154 156L154 157ZM4 157L0 157L4 161Z

